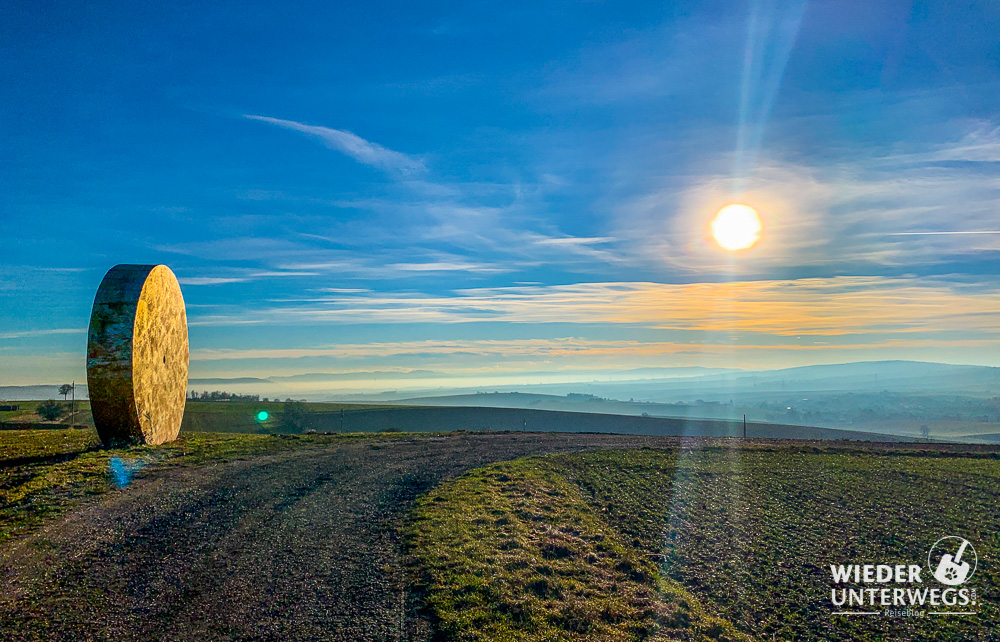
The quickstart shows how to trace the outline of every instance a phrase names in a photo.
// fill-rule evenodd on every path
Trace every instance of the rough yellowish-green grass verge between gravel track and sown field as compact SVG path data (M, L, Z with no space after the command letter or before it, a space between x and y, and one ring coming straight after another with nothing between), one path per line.
M444 484L419 500L408 542L448 639L748 639L660 577L548 458Z

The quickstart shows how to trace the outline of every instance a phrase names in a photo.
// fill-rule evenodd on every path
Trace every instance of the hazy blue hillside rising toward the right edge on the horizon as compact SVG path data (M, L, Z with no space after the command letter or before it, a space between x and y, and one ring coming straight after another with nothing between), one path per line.
M568 394L547 394L569 388ZM1000 431L1000 368L870 361L394 399L677 419L748 420L959 439Z

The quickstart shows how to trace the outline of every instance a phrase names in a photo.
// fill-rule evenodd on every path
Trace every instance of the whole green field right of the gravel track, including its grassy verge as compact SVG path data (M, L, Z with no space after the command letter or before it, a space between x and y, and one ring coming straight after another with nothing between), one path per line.
M782 447L522 459L424 496L412 568L453 640L994 639L994 457ZM833 615L831 564L926 566L946 535L979 553L975 615Z

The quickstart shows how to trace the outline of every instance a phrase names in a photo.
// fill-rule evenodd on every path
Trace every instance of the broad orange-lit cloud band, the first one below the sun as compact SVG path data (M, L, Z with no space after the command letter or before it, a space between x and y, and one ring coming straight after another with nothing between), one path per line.
M782 337L1000 332L1000 286L833 277L471 288L451 295L336 294L278 302L261 322L628 324Z

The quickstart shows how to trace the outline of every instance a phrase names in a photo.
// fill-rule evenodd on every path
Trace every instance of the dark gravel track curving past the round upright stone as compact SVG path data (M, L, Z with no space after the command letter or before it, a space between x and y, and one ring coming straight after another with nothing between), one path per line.
M491 461L672 438L454 435L153 472L0 552L0 638L399 640L398 526Z

